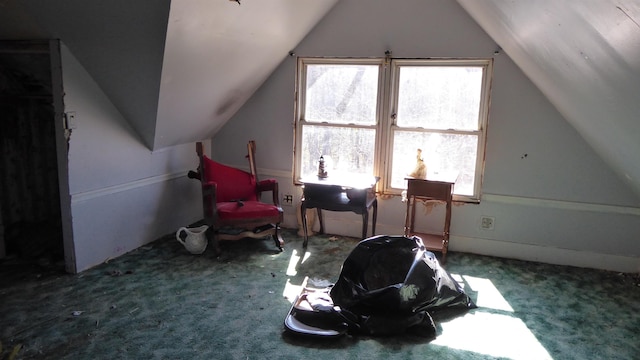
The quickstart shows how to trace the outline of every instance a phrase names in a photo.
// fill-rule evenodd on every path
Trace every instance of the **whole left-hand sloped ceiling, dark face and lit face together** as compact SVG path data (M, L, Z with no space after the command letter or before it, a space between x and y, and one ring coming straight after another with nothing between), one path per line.
M337 1L5 0L0 39L61 39L156 150L212 137Z

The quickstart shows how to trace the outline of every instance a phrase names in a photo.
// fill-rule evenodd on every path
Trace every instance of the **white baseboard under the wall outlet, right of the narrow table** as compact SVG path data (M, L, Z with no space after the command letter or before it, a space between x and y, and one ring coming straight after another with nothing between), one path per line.
M533 244L451 236L449 250L592 269L640 272L640 258Z

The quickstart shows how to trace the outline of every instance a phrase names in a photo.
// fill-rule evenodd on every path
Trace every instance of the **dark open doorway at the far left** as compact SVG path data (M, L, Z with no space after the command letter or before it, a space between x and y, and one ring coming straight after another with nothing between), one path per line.
M67 264L73 256L65 256L63 214L69 204L63 200L69 194L68 183L61 186L67 177L60 177L67 167L60 161L66 161L64 132L56 128L62 127L56 45L0 42L0 271L5 276L75 268ZM67 189L65 196L61 189Z

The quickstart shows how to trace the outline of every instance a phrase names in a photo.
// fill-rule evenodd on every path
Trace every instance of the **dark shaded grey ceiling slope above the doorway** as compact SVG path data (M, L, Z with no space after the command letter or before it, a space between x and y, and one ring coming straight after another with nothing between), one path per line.
M152 148L169 4L8 0L0 3L0 38L62 40Z

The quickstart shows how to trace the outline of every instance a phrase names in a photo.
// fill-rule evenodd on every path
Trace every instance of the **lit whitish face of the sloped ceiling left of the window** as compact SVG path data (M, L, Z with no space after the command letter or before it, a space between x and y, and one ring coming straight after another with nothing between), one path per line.
M336 2L172 1L154 148L211 137Z

